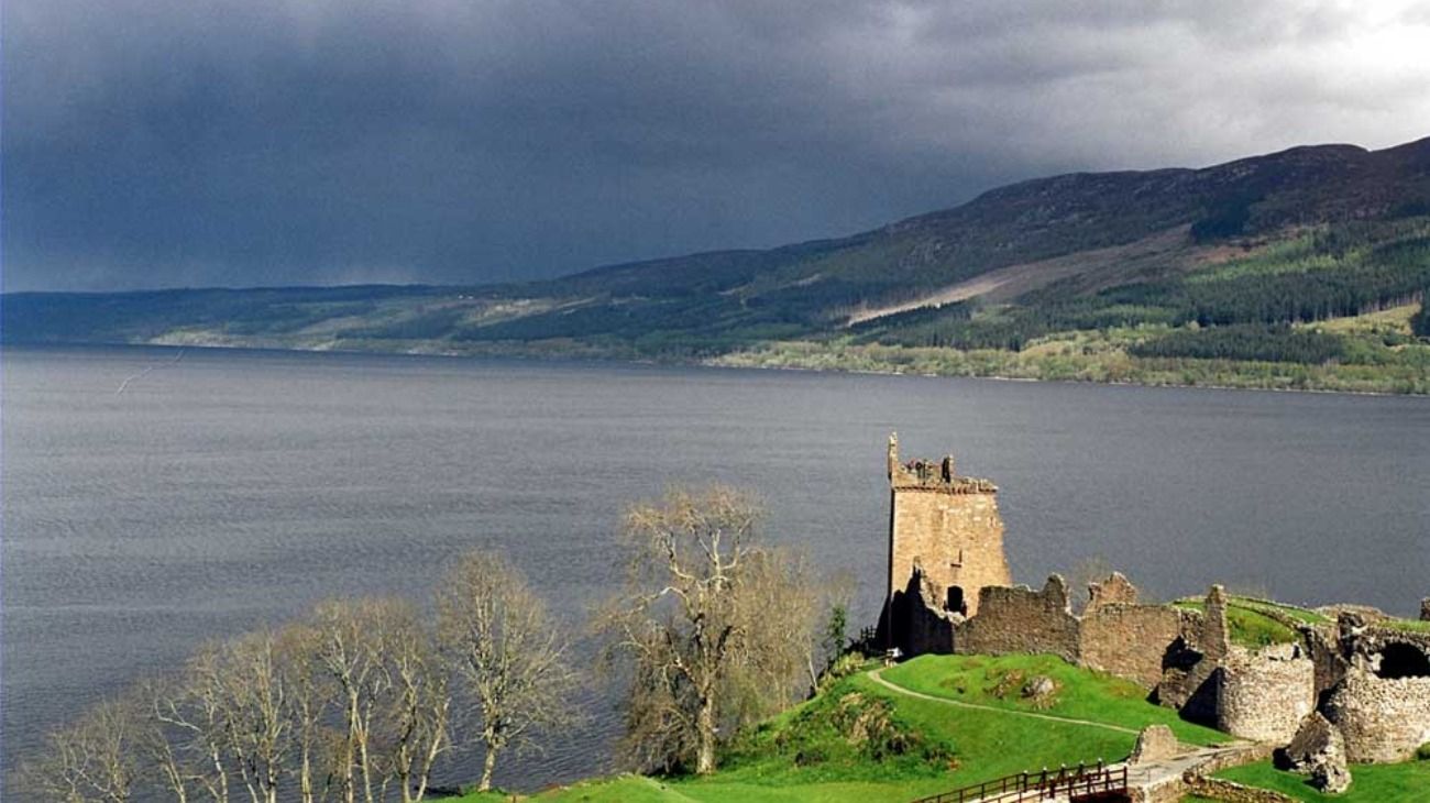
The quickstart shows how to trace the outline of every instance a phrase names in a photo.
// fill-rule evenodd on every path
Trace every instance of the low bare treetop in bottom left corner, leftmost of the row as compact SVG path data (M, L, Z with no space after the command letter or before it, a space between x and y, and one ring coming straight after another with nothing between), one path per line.
M127 803L137 776L139 714L129 700L104 700L51 730L43 753L23 764L16 786L43 800Z

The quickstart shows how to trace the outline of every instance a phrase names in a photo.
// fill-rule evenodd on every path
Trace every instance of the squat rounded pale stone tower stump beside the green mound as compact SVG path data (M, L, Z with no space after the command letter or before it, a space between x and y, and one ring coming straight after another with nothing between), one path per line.
M1298 644L1251 652L1231 647L1221 662L1217 727L1233 736L1286 744L1316 707L1316 664Z

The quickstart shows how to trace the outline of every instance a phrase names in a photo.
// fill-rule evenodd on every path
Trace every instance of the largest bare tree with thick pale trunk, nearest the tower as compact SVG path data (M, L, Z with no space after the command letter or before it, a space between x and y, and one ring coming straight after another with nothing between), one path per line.
M738 727L805 676L802 564L755 546L761 509L729 487L674 490L626 512L625 589L599 617L605 656L629 660L626 747L649 769L715 770ZM752 696L752 689L766 693Z

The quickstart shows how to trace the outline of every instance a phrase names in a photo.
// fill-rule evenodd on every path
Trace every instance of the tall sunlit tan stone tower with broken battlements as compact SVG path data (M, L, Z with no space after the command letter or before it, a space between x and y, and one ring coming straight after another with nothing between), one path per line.
M964 616L978 612L984 586L1012 584L997 486L960 477L952 456L940 463L899 463L897 433L889 434L888 474L888 604L907 593L915 566L940 594L942 609Z

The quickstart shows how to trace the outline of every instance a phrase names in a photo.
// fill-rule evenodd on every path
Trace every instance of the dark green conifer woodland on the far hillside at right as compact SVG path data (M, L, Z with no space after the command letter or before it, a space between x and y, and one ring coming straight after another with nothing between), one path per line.
M1134 356L1326 363L1346 359L1341 336L1291 324L1413 303L1430 286L1430 229L1421 220L1347 224L1185 276L1093 294L1065 286L1017 303L927 307L857 324L859 341L1018 351L1068 330L1175 327L1130 349ZM1414 319L1423 334L1426 313ZM1396 343L1387 343L1396 344Z

